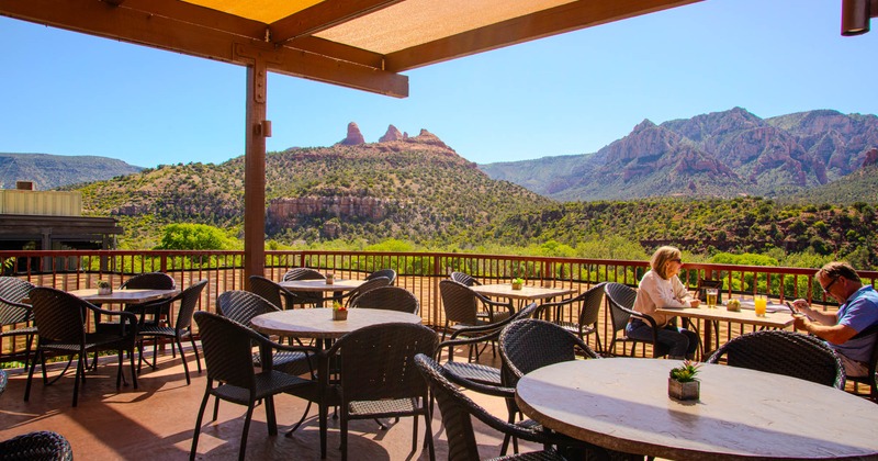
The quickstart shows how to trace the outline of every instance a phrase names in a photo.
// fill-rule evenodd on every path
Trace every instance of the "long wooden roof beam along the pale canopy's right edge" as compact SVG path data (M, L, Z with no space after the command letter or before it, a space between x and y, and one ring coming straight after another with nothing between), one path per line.
M384 68L401 72L700 1L702 0L579 0L391 53L386 56Z

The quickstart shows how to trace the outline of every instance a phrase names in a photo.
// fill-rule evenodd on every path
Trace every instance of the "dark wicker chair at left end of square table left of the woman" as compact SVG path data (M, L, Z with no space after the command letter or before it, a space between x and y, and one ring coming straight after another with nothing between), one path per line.
M515 314L511 302L495 302L474 292L469 286L453 280L441 280L439 282L439 293L442 296L442 308L446 313L446 326L442 330L442 339L446 333L463 327L485 325L486 322L479 318L479 304L487 307L487 323L495 323L510 317ZM494 310L497 310L495 312Z

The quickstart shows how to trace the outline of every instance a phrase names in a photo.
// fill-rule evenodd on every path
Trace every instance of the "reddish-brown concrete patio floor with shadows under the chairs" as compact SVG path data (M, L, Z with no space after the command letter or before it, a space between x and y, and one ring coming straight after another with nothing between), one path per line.
M30 402L23 402L26 373L10 372L9 386L0 396L0 440L34 430L54 430L71 443L76 459L117 460L155 458L183 460L189 458L192 431L199 405L206 385L206 372L199 374L194 357L187 349L192 384L185 384L182 362L172 358L170 349L159 353L159 366L151 370L144 366L138 378L139 389L131 382L115 387L114 357L101 358L97 371L87 374L80 386L79 404L71 406L74 379L68 372L57 383L45 386L40 370L34 375ZM484 360L495 360L489 351ZM126 362L127 363L127 362ZM203 367L203 359L202 359ZM57 375L59 367L52 367L49 378ZM130 376L130 368L124 368ZM477 403L493 414L505 418L506 407L500 398L473 395ZM292 438L284 432L301 417L306 403L291 395L275 397L278 436L268 435L263 406L254 411L247 441L248 459L319 459L319 431L316 408L312 407L303 427ZM240 447L246 407L223 402L216 421L210 421L213 401L205 412L199 439L198 459L236 459ZM424 420L419 421L418 450L412 452L413 418L401 418L387 430L380 430L372 420L352 421L348 441L351 460L427 460L423 448ZM476 440L482 458L499 456L502 436L474 420ZM329 420L327 459L340 459L338 420ZM448 459L448 443L440 415L434 415L432 434L436 457ZM536 445L521 445L522 451L539 449Z

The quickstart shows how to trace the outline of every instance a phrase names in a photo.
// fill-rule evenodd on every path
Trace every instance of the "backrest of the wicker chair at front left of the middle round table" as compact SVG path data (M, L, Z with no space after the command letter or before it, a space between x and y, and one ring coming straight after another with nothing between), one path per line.
M255 389L252 341L262 339L246 326L204 311L193 314L199 326L207 378Z

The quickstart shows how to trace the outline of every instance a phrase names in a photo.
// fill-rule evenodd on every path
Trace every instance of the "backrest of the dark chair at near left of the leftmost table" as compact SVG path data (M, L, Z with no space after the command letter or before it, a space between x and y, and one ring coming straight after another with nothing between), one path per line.
M85 344L87 301L53 288L36 286L31 291L31 302L41 342Z

